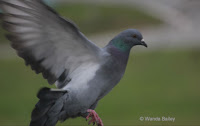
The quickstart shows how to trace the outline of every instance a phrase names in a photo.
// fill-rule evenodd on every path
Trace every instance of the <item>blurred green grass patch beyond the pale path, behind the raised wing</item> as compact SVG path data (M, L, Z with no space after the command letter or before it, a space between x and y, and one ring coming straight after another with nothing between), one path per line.
M112 5L93 4L64 4L55 5L57 12L73 20L80 30L88 35L108 32L130 27L139 28L147 25L160 24L157 20L135 8ZM4 37L4 30L0 27L0 43L8 43Z

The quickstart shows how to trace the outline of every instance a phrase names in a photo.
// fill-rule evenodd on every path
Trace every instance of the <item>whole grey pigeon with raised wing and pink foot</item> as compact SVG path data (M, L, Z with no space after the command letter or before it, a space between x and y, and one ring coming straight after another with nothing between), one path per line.
M99 48L42 0L0 0L0 9L17 54L57 87L38 92L30 126L55 126L75 117L103 126L97 103L122 78L131 48L147 47L141 33L125 30Z

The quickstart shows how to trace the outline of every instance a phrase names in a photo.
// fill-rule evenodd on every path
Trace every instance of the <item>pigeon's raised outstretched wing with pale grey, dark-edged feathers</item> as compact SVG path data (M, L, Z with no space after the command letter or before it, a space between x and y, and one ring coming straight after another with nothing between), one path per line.
M12 47L49 84L67 84L81 64L98 62L101 49L41 0L0 0L0 8Z

